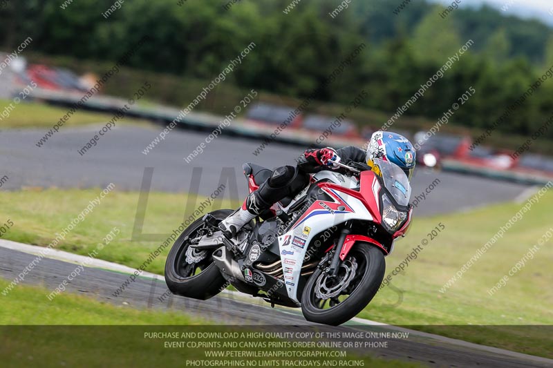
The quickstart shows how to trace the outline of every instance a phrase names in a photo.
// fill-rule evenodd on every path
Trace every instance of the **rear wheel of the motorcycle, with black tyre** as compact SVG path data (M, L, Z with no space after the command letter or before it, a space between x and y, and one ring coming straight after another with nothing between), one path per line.
M217 220L223 220L232 210L213 211ZM208 231L202 219L194 221L180 234L165 261L165 282L172 293L206 300L221 291L225 278L213 262L213 251L198 251L191 240Z

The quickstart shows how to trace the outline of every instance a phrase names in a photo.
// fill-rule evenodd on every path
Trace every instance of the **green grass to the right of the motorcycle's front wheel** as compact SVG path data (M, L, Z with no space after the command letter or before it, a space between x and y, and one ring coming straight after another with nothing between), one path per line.
M440 289L469 259L521 209L522 204L499 204L469 213L417 218L404 240L386 260L386 275L438 222L446 229L429 242L402 273L393 276L393 288L382 289L360 317L394 325L427 325L417 329L483 345L492 345L552 357L550 332L527 325L553 325L553 240L546 242L523 269L490 296L503 275L552 228L553 195L547 193L525 213L473 266L444 293ZM389 307L399 300L398 307ZM434 326L433 326L434 325ZM450 325L450 326L438 326ZM465 325L464 327L455 325ZM469 325L469 327L467 327ZM473 327L470 327L470 326ZM497 325L498 327L476 327Z

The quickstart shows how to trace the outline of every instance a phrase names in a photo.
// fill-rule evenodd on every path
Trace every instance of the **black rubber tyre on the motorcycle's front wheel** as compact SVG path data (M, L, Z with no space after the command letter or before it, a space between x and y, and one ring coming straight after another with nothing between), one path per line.
M353 291L350 291L345 300L334 306L331 304L332 300L329 299L330 308L321 309L317 304L322 299L317 298L315 290L323 271L317 269L309 278L306 287L303 288L301 296L301 311L306 320L338 326L357 316L357 313L373 300L386 271L386 262L382 251L371 244L359 242L353 246L347 257L346 260L350 257L355 258L355 262L359 264L355 277L350 281ZM323 307L325 303L322 304Z

